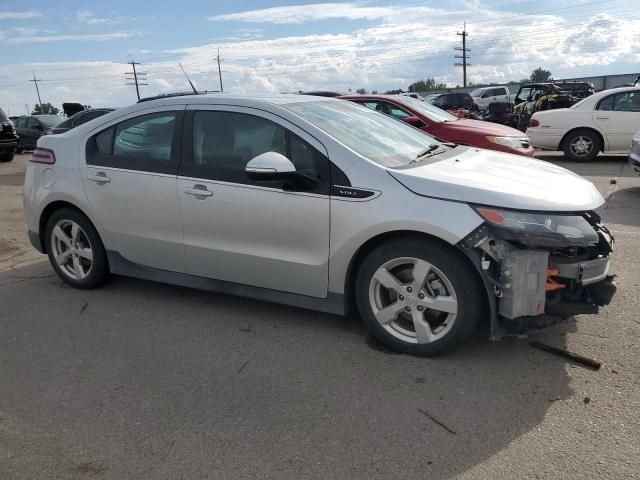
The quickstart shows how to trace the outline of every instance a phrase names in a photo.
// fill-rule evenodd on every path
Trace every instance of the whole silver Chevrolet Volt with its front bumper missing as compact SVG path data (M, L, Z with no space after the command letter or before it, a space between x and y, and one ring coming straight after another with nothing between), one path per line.
M342 100L184 95L38 142L24 203L58 275L108 275L346 314L416 355L481 320L521 334L614 294L587 180L441 144Z

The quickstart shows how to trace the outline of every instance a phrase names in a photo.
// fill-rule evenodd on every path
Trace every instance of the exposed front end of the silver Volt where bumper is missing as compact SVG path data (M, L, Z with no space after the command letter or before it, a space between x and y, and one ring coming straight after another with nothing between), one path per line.
M616 292L609 274L613 238L606 227L596 230L597 251L580 257L518 247L486 226L459 244L482 276L491 340L544 329L573 315L597 314L609 304Z

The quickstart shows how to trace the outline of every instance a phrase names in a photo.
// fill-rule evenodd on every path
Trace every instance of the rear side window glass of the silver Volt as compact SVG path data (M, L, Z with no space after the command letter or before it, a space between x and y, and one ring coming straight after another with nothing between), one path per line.
M181 112L159 112L125 120L87 143L87 164L177 173L177 128Z

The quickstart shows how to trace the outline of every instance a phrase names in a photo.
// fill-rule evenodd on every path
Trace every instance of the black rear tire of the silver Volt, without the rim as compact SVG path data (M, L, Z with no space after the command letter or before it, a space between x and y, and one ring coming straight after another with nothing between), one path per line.
M62 267L58 265L58 262L55 259L52 239L53 229L60 222L64 221L74 222L80 226L86 235L86 239L88 239L90 248L93 252L90 269L88 270L87 275L82 279L71 278L68 273L63 271ZM100 236L91 221L79 211L70 208L56 210L47 221L44 241L49 261L51 262L53 269L62 280L72 287L82 290L96 288L104 283L109 277L109 264L102 240L100 240Z

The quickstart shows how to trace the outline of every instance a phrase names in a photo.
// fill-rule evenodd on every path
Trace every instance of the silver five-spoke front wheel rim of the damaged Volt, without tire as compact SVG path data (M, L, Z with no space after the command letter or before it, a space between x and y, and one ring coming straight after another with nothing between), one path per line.
M408 343L431 343L453 327L458 300L449 279L429 262L395 258L376 270L369 284L369 303L376 320Z

